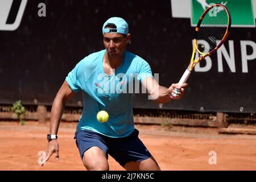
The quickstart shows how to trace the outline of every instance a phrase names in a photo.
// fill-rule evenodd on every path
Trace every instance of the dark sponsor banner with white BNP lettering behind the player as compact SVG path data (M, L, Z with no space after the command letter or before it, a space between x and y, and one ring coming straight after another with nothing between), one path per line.
M193 26L212 2L1 0L0 104L51 105L73 67L104 49L102 25L111 16L126 19L128 50L147 60L159 84L168 87L188 67ZM232 14L224 46L196 66L181 100L159 105L137 90L134 107L256 113L256 1L214 2ZM81 95L68 105L81 106Z

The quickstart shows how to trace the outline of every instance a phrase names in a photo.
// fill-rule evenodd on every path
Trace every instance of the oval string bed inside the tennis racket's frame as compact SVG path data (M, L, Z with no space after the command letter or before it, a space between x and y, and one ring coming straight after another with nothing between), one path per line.
M197 33L197 48L208 53L217 47L228 28L228 14L222 6L215 6L205 14Z

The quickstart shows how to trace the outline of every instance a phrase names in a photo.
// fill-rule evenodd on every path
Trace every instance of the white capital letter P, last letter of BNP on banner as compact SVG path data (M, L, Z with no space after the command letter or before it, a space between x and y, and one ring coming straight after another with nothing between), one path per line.
M247 55L246 47L253 48L253 53ZM248 60L256 59L256 43L251 40L241 40L242 72L248 73Z

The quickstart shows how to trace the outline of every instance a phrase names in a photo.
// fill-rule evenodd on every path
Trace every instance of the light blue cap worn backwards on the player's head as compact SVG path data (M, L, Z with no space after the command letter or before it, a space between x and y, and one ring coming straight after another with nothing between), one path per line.
M117 26L117 28L105 28L107 24L115 24L115 26ZM125 34L127 35L129 32L129 27L127 22L119 17L112 17L109 18L108 20L106 20L106 22L104 23L103 27L102 27L102 33L119 33L119 34Z

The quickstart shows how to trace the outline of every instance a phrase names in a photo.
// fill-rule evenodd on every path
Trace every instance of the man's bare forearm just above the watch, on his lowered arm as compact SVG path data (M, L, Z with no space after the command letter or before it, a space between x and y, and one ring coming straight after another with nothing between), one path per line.
M60 125L60 119L64 111L64 106L65 103L63 102L63 100L55 97L50 116L49 134L57 135Z

